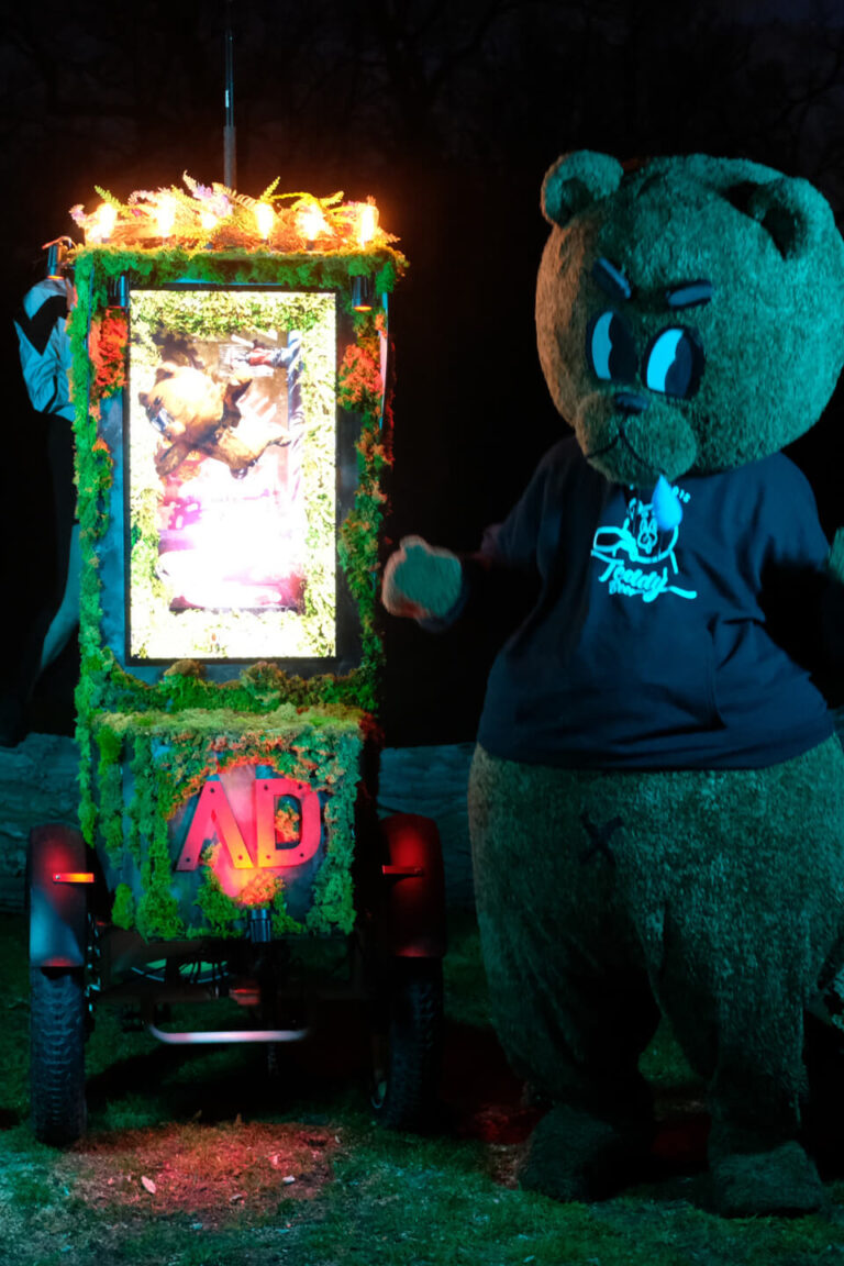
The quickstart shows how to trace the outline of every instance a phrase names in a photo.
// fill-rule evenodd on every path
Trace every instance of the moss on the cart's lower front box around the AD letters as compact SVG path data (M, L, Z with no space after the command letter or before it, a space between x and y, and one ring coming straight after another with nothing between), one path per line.
M176 862L208 779L245 770L306 784L321 809L314 865L256 871L264 891L249 908L267 908L278 933L349 932L367 725L367 715L353 709L291 704L261 717L201 709L97 714L85 762L92 770L89 830L114 894L113 920L149 939L243 934L247 910L227 896L210 866L176 871Z

